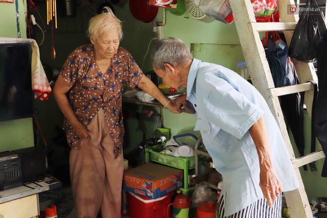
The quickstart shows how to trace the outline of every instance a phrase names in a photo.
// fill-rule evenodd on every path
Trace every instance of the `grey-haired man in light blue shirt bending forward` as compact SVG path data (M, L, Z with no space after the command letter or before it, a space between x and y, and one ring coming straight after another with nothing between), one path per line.
M163 82L187 94L195 130L222 174L220 218L280 218L281 192L299 184L278 125L260 93L223 66L193 58L179 39L153 47L151 62Z

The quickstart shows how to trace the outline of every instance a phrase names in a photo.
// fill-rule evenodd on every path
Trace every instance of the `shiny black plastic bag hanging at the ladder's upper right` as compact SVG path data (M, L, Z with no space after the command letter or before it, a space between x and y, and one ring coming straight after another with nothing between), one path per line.
M318 44L326 32L324 14L316 0L308 0L289 45L288 54L303 62L316 62Z

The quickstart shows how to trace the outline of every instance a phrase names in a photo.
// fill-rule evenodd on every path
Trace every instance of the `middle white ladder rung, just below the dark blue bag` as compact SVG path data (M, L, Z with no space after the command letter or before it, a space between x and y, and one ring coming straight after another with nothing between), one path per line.
M297 84L297 85L272 88L272 89L268 89L267 91L268 91L269 98L273 98L273 97L293 94L293 93L297 93L297 92L310 91L310 90L314 90L314 89L315 89L314 85L310 82L307 82L307 83L302 83L302 84Z

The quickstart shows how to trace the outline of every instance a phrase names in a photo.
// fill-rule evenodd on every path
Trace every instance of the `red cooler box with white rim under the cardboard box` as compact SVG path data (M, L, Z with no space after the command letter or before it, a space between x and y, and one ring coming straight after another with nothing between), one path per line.
M167 207L174 192L152 199L127 192L129 218L167 218ZM168 211L170 214L170 210Z

